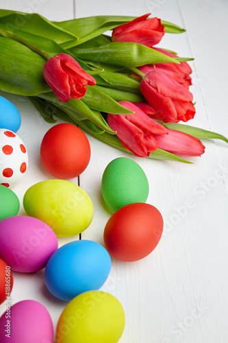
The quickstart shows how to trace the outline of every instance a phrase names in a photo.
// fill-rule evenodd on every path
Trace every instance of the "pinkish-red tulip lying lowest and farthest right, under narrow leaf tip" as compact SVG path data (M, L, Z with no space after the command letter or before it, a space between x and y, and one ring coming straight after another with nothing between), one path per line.
M168 134L154 134L153 137L160 149L175 155L201 156L205 152L203 143L190 134L168 129Z

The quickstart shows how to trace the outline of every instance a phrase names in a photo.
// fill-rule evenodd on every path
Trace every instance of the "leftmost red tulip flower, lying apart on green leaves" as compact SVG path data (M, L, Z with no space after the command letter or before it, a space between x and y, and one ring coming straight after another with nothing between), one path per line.
M96 84L94 78L68 54L58 54L47 60L43 74L60 102L68 102L71 97L81 99L86 93L87 84Z

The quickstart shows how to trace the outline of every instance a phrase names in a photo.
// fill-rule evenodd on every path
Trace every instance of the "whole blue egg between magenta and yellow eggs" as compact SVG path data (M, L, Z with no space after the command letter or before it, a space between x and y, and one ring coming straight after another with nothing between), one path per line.
M45 285L56 298L71 301L81 293L100 289L110 269L110 255L101 244L88 240L72 241L49 258Z

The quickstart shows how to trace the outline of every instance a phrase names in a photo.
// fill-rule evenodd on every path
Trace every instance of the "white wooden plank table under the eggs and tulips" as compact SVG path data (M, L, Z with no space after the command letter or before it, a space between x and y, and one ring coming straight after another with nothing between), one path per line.
M189 124L228 136L227 0L1 0L0 8L38 12L53 21L152 12L185 27L184 34L166 34L159 46L195 58L190 65L197 114ZM40 142L51 124L42 119L27 97L0 95L20 111L18 135L29 153L27 176L13 189L21 201L19 214L23 215L25 191L36 182L52 178L42 167L39 155ZM147 202L164 217L164 234L149 257L135 263L112 259L112 270L102 289L116 296L125 309L126 326L119 342L227 343L227 144L204 140L205 154L191 158L194 164L186 165L136 158L89 134L87 137L92 156L80 176L80 186L92 199L94 219L82 239L103 244L110 212L101 200L101 176L106 165L118 156L131 157L144 169L150 185ZM71 181L77 184L77 178ZM192 205L187 207L189 202ZM60 246L77 238L59 239ZM43 272L14 272L12 303L40 301L49 310L55 328L66 303L49 294ZM3 311L4 304L0 315Z

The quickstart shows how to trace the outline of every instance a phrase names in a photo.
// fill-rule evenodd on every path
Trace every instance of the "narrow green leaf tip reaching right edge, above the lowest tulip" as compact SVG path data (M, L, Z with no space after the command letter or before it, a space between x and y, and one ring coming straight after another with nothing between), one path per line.
M194 128L194 126L179 124L179 123L162 123L166 128L184 132L190 134L191 136L197 137L199 139L221 139L228 143L228 139L224 137L222 134L218 134L216 132L211 132L207 130L203 130L201 128Z

